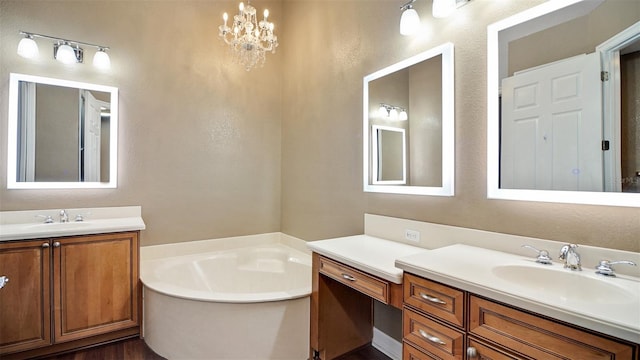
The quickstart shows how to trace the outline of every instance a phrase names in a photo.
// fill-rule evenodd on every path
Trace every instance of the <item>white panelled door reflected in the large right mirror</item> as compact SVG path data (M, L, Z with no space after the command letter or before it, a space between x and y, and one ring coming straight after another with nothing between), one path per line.
M596 53L503 79L500 186L602 191L600 89Z

